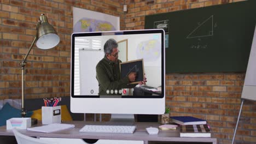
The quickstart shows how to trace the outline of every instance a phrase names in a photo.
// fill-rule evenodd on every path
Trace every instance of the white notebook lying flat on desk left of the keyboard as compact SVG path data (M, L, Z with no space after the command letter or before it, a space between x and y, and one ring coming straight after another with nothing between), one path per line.
M75 127L74 124L52 123L52 124L43 125L40 127L27 128L27 130L38 131L38 132L42 132L42 133L51 133L54 131L71 129L74 127Z

